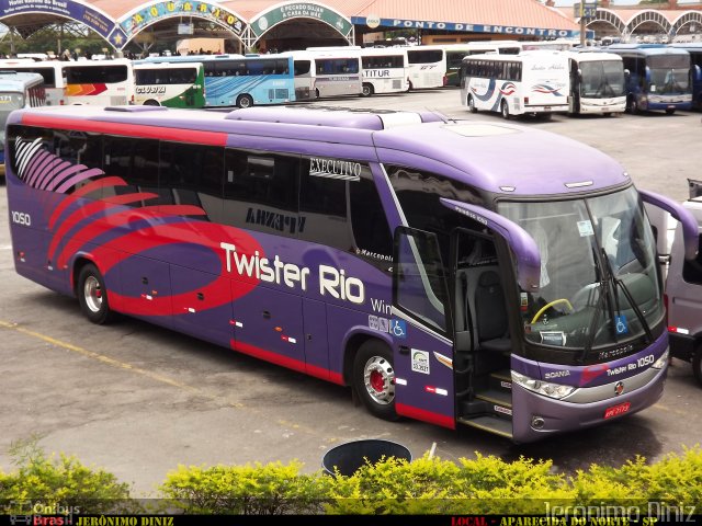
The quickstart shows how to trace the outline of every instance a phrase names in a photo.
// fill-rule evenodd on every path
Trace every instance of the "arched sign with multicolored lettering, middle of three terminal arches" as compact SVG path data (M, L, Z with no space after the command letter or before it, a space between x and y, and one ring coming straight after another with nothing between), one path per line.
M132 13L120 22L120 27L128 38L139 33L144 27L152 23L173 16L193 16L216 22L226 26L235 35L240 36L244 32L244 22L239 18L220 5L208 2L196 2L190 0L168 0L156 2L147 8Z

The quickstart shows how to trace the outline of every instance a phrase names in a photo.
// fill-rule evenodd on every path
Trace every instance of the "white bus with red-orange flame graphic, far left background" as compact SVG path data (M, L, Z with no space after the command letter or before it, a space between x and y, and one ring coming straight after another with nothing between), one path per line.
M0 69L44 77L47 105L120 106L134 103L132 61L1 60Z

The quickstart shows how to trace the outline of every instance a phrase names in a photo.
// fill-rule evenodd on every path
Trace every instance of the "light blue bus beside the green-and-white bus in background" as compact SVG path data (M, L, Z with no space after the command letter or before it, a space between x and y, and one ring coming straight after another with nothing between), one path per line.
M202 62L205 68L205 107L249 107L295 101L293 59L279 55L183 55L137 60Z

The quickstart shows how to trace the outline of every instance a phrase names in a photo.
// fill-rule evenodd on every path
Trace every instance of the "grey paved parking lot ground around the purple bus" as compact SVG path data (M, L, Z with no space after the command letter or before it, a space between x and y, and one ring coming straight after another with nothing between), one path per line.
M501 122L469 114L456 90L344 99L325 104L426 110L446 118ZM642 188L676 201L700 178L700 113L517 119L589 144L619 160ZM509 155L509 152L506 152ZM514 159L514 162L520 162ZM659 459L702 436L702 389L675 362L653 408L579 433L516 446L477 430L456 432L417 421L388 423L355 407L350 390L236 354L145 322L89 323L75 299L14 273L4 185L0 186L0 467L8 447L34 434L46 451L75 454L134 483L136 495L179 464L287 462L319 469L324 453L351 439L386 438L415 457L437 444L444 459L476 451L505 459L553 458L563 470L619 466L635 455Z

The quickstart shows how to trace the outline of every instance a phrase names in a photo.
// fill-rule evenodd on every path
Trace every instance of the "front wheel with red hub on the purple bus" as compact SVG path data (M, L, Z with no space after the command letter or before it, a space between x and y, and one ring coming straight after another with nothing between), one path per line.
M353 361L353 388L371 414L396 421L395 367L390 350L377 340L369 340Z

